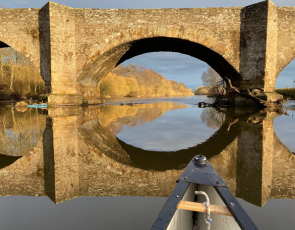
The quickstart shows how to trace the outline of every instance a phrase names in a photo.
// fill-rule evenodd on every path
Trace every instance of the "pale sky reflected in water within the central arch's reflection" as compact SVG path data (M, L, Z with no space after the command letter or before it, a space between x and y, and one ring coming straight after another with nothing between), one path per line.
M209 128L202 122L203 111L195 106L167 111L152 122L134 127L125 125L116 136L144 150L173 152L188 149L205 142L219 128Z

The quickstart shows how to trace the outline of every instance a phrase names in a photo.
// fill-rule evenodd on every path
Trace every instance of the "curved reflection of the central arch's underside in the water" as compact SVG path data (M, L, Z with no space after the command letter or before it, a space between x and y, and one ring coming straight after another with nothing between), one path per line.
M87 121L79 127L84 140L94 145L108 157L125 165L131 164L135 168L156 171L181 168L197 154L204 154L207 158L219 154L239 134L238 124L232 125L228 135L225 136L224 133L227 133L227 129L228 124L224 124L206 142L195 147L159 153L143 150L116 139L98 120ZM222 142L220 141L221 136Z

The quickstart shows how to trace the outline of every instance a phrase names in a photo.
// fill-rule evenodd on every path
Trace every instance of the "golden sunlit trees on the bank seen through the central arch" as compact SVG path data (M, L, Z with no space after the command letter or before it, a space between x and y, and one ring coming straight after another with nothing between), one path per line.
M102 97L162 97L193 95L183 83L167 80L153 70L119 65L100 83Z

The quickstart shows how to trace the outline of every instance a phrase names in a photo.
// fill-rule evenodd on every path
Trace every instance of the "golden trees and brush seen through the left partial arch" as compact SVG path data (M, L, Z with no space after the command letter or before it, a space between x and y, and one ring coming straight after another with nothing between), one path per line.
M37 99L45 93L45 83L33 64L21 53L0 49L0 100Z

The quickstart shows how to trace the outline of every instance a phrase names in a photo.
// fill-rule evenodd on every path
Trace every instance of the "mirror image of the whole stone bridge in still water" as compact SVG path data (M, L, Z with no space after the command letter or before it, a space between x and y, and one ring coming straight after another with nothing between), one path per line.
M129 151L126 153L124 148L130 146L123 142L120 145L100 124L99 109L88 109L77 116L61 112L62 117L47 118L43 142L39 141L29 154L0 170L0 195L47 195L60 203L78 196L170 194L182 172L173 168L182 162L168 165L166 171L144 169L152 164L140 165ZM193 147L193 151L171 154L184 155L190 160L199 153L195 151L210 151L210 162L231 190L256 205L262 206L270 198L294 198L295 158L276 138L273 115L264 112L240 116L228 135L221 134L228 129L224 124L206 143ZM220 142L218 135L224 138L223 147L215 146ZM140 151L144 150L136 151L142 154ZM162 160L156 155L153 159Z

